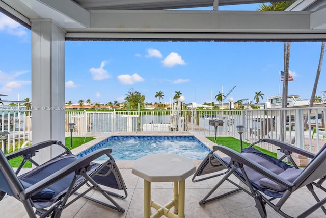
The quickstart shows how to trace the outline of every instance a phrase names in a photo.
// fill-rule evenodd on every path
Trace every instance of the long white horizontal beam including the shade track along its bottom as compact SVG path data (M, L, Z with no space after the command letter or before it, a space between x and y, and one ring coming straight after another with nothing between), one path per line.
M326 39L325 28L311 28L312 12L183 10L91 10L90 12L90 28L67 28L66 39L131 39L133 37L145 40Z

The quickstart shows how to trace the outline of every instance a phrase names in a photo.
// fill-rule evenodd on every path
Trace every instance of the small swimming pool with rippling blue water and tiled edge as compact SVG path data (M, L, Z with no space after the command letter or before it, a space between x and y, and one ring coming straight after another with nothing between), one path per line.
M203 160L210 152L194 136L111 136L79 153L77 157L83 157L99 148L111 148L115 160L137 160L155 153L178 154L191 160ZM100 157L97 160L102 159Z

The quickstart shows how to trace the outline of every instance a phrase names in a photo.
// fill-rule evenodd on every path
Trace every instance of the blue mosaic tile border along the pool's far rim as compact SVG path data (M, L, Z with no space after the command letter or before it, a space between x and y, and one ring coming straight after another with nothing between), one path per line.
M206 151L211 152L211 150L205 146L205 144L203 144L203 142L201 142L200 140L198 140L198 138L196 138L195 136L110 136L107 139L95 144L94 146L92 146L91 148L80 152L79 154L77 154L78 158L84 157L87 154L92 153L93 151L96 151L100 148L102 148L104 146L104 144L108 141L111 140L118 140L118 141L122 141L122 140L130 140L130 139L134 139L134 140L194 140L196 142L198 142L200 144L201 147L203 147Z

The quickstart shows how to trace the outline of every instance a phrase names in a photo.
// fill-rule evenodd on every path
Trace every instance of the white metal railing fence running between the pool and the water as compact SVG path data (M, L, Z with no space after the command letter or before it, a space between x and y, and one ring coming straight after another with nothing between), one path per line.
M307 111L308 123L304 125ZM281 114L284 119L281 119ZM242 139L254 142L259 138L282 139L302 149L316 152L326 142L324 120L326 108L260 109L260 110L184 110L179 114L168 110L152 111L70 111L65 112L65 132L70 136L69 123L74 123L74 136L95 136L114 132L191 131L214 136L215 127L209 120L222 120L218 136L239 138L236 126L243 125ZM176 117L177 116L177 117ZM176 120L177 118L177 120ZM0 131L9 132L7 149L21 148L31 141L31 112L0 111ZM2 144L3 146L3 144ZM268 145L266 145L268 146ZM3 148L3 147L2 147ZM266 148L275 150L274 148Z

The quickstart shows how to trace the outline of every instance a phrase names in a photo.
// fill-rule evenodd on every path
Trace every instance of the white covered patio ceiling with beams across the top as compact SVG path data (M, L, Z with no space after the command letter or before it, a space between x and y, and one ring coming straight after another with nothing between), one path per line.
M52 20L66 40L324 41L326 1L297 0L286 11L219 11L256 0L0 0L30 28ZM213 6L214 10L169 10Z

